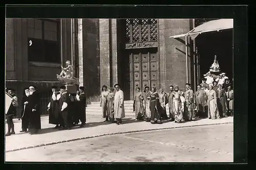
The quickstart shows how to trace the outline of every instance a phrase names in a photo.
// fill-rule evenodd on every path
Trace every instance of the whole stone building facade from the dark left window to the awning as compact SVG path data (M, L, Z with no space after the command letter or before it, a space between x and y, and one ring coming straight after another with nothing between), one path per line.
M102 85L113 87L116 83L124 90L125 100L133 100L136 86L168 91L170 85L178 85L184 90L185 40L169 36L189 32L193 29L192 19L73 22L71 27L71 19L62 19L60 31L60 19L6 19L6 86L15 88L19 98L24 87L35 84L48 104L51 86L60 85L56 74L66 60L73 61L88 99L98 100ZM196 63L189 39L187 50L188 82L194 86L198 83L193 78Z

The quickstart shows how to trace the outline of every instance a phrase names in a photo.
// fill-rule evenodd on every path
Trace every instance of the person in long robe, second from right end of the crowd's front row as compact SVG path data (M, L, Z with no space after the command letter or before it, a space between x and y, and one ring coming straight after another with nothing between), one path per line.
M218 89L215 91L217 95L217 106L218 106L219 113L222 117L227 117L226 94L225 94L225 90L222 88L222 84L218 84Z

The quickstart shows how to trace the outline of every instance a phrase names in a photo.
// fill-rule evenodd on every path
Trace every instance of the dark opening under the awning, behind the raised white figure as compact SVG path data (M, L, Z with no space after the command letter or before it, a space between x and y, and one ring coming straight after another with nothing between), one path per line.
M232 80L233 78L233 31L205 33L196 38L196 46L200 57L200 77L209 71L217 55L221 72ZM200 82L201 82L200 79Z

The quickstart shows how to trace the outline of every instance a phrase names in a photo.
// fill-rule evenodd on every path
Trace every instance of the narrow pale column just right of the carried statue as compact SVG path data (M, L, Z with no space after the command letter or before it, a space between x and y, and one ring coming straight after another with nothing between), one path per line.
M83 77L83 38L82 38L82 19L78 19L78 79L79 86L84 86Z

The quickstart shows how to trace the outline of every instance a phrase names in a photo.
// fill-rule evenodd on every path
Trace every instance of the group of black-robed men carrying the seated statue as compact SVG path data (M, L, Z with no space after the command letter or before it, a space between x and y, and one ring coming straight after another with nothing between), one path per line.
M66 86L52 86L52 96L48 104L49 124L55 129L70 130L81 122L80 128L86 125L86 95L80 86L76 94L67 93Z

